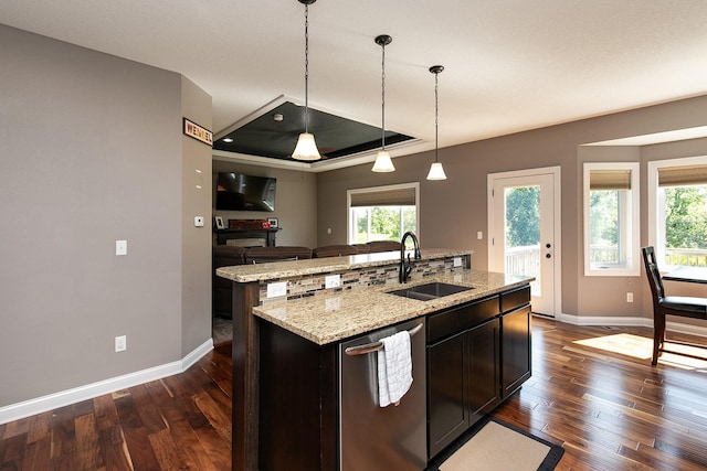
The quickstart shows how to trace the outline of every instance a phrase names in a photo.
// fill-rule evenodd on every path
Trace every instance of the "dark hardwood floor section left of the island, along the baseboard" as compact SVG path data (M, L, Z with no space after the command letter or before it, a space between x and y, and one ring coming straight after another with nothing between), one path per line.
M187 372L0 425L0 470L231 469L231 345Z

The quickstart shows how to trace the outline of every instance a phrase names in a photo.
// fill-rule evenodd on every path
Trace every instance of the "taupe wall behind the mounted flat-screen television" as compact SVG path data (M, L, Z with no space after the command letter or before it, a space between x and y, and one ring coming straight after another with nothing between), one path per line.
M282 231L277 232L277 245L298 245L312 248L321 245L317 244L317 178L315 174L221 160L213 161L213 172L214 184L215 172L240 172L277 179L274 212L213 210L215 216L223 216L225 224L228 224L228 220L277 217L277 223L282 227Z

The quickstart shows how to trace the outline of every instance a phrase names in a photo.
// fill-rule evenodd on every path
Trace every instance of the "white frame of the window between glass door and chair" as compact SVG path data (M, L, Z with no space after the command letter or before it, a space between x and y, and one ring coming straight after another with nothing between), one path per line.
M625 263L593 268L590 261L590 174L599 170L627 170L631 172L631 194L620 202L620 237L625 246ZM583 222L584 222L584 276L587 277L640 277L641 276L641 192L640 162L584 162L583 164Z

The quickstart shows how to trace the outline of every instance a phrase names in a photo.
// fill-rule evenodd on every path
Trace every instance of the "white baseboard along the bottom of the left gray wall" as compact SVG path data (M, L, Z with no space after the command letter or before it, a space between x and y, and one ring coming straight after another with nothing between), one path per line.
M97 383L74 387L22 403L0 407L0 425L30 417L36 414L53 410L59 407L76 404L82 400L93 399L104 394L114 393L138 384L149 383L167 376L183 373L197 363L207 353L213 350L213 339L209 339L181 361L167 363L151 368L128 373L123 376L104 379Z

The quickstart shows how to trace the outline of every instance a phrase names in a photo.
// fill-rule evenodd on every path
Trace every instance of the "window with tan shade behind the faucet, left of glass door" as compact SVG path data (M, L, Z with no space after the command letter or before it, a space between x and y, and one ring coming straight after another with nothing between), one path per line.
M420 184L349 190L349 244L400 240L407 231L418 232Z

